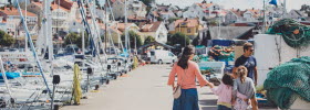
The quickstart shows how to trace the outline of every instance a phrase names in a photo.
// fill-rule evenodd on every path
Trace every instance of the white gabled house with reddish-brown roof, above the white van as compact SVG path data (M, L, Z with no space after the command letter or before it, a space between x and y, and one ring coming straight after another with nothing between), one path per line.
M141 35L144 37L144 40L147 36L153 36L156 42L167 43L168 30L166 29L164 22L144 22L138 26L141 29Z

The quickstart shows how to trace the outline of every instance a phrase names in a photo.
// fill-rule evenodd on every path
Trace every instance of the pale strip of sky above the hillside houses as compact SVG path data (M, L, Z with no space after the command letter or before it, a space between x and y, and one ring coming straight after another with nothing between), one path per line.
M196 2L202 2L204 0L156 0L157 3L164 3L173 6L179 6L180 8L185 8L192 6ZM224 6L225 9L262 9L264 0L207 0L207 2L216 2L219 6ZM271 0L265 0L267 4ZM283 0L278 0L279 2L283 2ZM287 9L288 11L291 9L300 9L302 4L309 4L310 0L287 0Z

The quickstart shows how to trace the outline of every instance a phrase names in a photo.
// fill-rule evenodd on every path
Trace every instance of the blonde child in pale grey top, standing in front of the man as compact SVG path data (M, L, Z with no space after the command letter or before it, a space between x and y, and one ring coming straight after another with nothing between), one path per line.
M255 86L251 78L247 77L247 68L245 66L239 66L237 69L237 79L234 82L234 97L237 96L234 108L236 110L247 110L250 109L249 99L255 99ZM240 92L246 97L238 97L236 92ZM254 107L257 108L257 107Z

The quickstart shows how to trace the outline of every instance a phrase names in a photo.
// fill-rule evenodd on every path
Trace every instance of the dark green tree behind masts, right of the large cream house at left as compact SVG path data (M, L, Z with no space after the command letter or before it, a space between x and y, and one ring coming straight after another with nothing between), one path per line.
M87 46L89 43L89 36L85 32L84 34L84 40L85 40L85 46ZM65 36L64 38L64 45L69 45L69 44L76 44L79 47L82 47L82 33L78 34L78 33L70 33Z

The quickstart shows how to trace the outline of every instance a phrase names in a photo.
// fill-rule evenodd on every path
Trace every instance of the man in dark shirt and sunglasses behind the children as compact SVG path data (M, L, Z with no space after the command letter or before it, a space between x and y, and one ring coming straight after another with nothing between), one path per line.
M244 55L236 59L232 73L236 74L236 68L238 68L239 66L245 66L248 69L248 77L254 80L255 85L257 85L257 62L256 58L252 56L252 44L246 43L244 45Z

